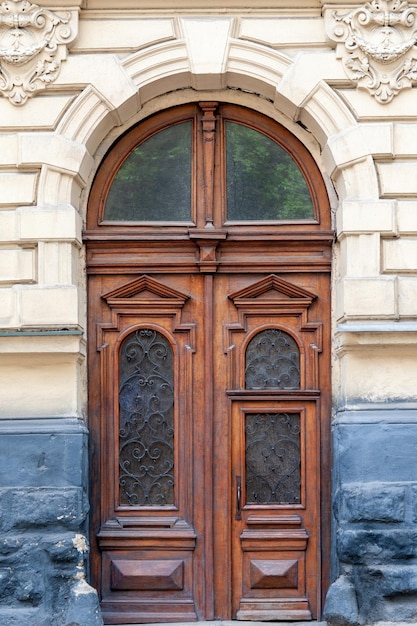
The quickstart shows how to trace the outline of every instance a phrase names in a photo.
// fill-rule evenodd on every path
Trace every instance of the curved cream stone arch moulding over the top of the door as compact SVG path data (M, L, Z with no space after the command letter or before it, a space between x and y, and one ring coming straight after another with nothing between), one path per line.
M173 60L163 66L162 72L161 61L170 54L174 55ZM306 93L303 75L298 68L301 61L260 44L231 39L226 54L224 65L210 79L212 82L203 84L199 67L195 68L193 64L192 51L189 54L182 42L166 42L140 50L123 61L125 80L118 90L117 102L109 101L99 84L89 85L66 110L56 129L58 136L82 147L78 170L77 163L70 174L52 165L44 167L39 198L47 198L48 204L71 205L74 196L79 196L80 186L84 193L88 192L96 167L118 135L150 112L187 99L204 100L207 88L217 89L219 100L237 102L240 98L238 103L253 108L257 108L253 103L256 97L250 93L258 94L262 98L259 106L266 115L281 123L287 119L289 125L300 122L313 134L322 151L322 157L317 151L317 160L321 160L321 169L327 179L333 179L340 199L350 195L354 181L355 196L360 195L359 186L363 195L369 197L370 181L371 195L376 196L375 166L361 139L357 122L329 85L320 80ZM136 92L132 90L132 79L136 80ZM173 83L182 91L168 96ZM238 94L236 89L250 93ZM213 93L208 99L212 98ZM348 130L354 132L348 133ZM95 159L95 167L88 170L85 167L86 149L87 154ZM356 153L354 161L352 151ZM63 184L57 184L57 176ZM86 195L82 196L81 203L86 205Z

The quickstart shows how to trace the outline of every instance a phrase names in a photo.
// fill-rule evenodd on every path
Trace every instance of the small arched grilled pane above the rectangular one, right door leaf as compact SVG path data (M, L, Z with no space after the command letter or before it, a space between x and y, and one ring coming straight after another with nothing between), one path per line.
M262 330L246 348L247 389L298 389L300 354L297 343L277 328Z

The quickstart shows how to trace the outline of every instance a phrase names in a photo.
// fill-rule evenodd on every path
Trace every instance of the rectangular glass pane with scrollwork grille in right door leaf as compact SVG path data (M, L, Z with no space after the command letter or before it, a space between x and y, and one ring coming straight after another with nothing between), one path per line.
M301 501L300 414L246 415L246 503Z

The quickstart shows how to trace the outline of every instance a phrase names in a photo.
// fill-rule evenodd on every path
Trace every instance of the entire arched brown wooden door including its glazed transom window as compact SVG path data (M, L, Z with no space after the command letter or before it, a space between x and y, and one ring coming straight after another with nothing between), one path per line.
M311 155L248 109L165 111L109 151L84 238L106 623L320 617L332 233Z

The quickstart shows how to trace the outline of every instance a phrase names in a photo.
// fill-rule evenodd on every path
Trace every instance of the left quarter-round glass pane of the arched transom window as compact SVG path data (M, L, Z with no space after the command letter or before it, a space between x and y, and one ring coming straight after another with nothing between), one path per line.
M105 220L191 220L191 132L182 122L135 148L111 184Z

